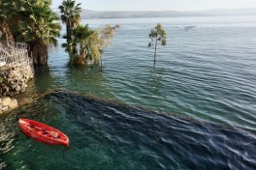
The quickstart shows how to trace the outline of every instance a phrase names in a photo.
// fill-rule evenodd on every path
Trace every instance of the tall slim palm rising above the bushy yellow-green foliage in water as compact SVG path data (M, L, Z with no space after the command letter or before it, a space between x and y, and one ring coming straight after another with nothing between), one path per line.
M61 20L66 23L67 42L69 43L72 39L72 30L80 24L80 3L76 5L75 0L64 0L59 9Z

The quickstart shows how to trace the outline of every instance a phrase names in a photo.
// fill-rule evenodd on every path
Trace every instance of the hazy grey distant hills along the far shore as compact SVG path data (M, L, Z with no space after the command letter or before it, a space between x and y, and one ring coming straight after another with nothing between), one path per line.
M53 11L60 15L58 9ZM82 19L93 18L133 18L133 17L176 17L176 16L203 16L203 15L247 15L256 14L256 9L240 9L240 10L211 10L201 12L175 12L175 11L144 11L144 12L125 12L125 11L81 11Z

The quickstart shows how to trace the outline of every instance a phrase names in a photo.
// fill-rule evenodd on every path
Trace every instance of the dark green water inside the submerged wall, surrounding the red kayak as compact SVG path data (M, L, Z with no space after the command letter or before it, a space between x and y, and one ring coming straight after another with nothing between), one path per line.
M17 118L59 128L69 149L28 139ZM53 91L0 116L2 169L256 169L255 132Z

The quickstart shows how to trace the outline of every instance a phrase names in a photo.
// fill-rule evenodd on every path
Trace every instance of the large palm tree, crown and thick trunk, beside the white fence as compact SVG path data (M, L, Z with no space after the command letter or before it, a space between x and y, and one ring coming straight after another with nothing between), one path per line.
M31 45L35 65L46 65L48 45L57 44L56 37L59 37L61 27L48 4L39 2L26 5L25 13L28 17L18 22L18 30L21 33L18 39Z

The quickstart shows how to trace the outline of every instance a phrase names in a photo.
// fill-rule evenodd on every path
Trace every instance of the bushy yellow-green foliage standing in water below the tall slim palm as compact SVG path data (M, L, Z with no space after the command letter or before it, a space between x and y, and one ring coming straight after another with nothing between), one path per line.
M72 53L71 63L74 65L85 65L87 61L99 63L102 52L110 45L114 29L111 25L98 30L92 30L88 25L79 25L72 31L71 42L63 45Z

